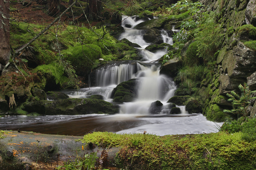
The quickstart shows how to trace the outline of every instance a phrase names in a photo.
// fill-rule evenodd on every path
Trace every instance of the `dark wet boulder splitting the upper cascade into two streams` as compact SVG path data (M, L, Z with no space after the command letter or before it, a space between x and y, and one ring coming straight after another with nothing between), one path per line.
M157 29L148 29L143 35L143 39L147 43L152 43L152 44L161 44L163 43L163 39L161 36L161 31Z

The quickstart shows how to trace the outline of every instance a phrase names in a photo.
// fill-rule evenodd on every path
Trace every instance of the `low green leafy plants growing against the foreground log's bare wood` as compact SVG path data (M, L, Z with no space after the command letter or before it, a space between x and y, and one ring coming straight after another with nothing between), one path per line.
M57 167L57 169L59 170L62 168L65 168L65 170L92 169L95 166L96 159L98 159L96 152L92 152L90 154L87 153L87 154L84 154L83 158L77 156L75 161L70 160L70 161L64 162L64 165Z

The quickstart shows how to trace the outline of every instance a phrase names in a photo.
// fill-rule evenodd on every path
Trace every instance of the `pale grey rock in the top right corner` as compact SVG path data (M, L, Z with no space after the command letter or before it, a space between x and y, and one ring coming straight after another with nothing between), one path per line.
M245 21L246 24L252 24L256 27L256 2L255 0L250 0L247 4L245 10Z

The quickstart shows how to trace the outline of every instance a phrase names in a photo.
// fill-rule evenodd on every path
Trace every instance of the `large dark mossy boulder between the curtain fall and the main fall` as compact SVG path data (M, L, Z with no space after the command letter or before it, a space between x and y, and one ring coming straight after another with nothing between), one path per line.
M137 97L138 83L139 81L136 81L136 79L131 79L118 84L113 89L113 102L132 102Z

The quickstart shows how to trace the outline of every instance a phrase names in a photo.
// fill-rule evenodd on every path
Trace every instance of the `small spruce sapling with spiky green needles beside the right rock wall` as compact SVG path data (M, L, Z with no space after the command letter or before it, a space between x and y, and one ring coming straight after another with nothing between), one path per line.
M232 110L223 110L226 113L235 114L238 117L247 116L246 107L250 104L250 100L256 99L256 97L252 97L252 93L256 93L256 90L251 91L246 83L238 86L241 91L241 96L239 96L235 91L231 91L231 94L227 93L229 97L228 101L232 103Z

